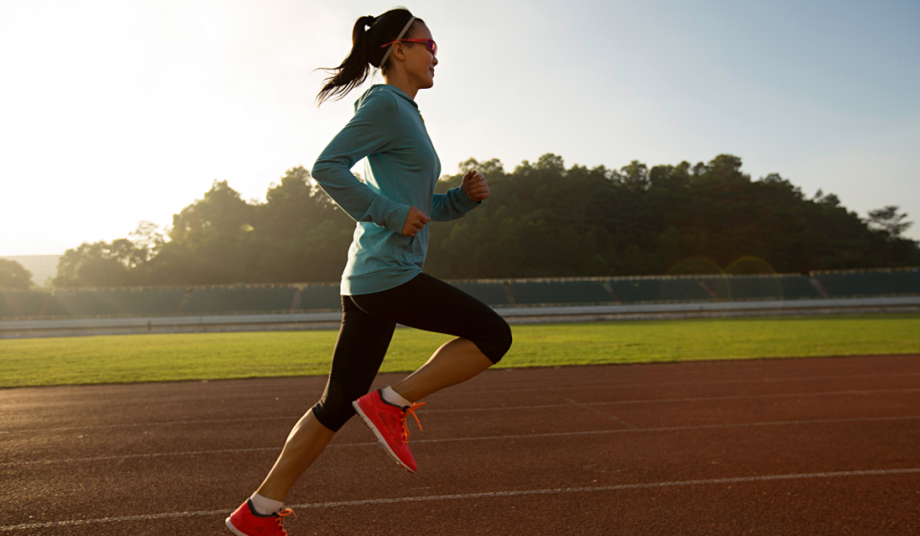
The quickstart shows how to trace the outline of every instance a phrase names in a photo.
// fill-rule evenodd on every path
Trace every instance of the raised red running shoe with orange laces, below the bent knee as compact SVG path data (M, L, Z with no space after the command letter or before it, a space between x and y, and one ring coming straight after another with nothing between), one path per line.
M380 393L379 389L374 393L367 393L352 402L351 405L361 416L364 424L374 432L374 436L377 436L377 440L380 441L390 458L393 458L409 473L415 473L419 470L419 466L415 464L415 458L408 450L406 415L412 414L421 429L419 416L415 415L415 410L425 403L399 407L386 402Z

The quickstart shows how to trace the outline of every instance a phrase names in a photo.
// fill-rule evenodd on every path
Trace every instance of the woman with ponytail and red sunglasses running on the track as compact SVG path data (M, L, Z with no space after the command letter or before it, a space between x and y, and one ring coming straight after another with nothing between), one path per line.
M226 519L241 536L287 534L282 501L330 439L356 413L400 466L415 473L406 416L431 393L465 382L497 363L512 345L508 324L485 303L422 273L428 223L463 217L489 197L489 182L472 170L461 186L434 194L441 162L415 96L434 85L437 45L407 9L361 17L351 53L317 101L341 98L372 67L385 84L355 103L351 121L316 160L313 177L357 222L342 274L342 323L332 370L319 402L294 426L259 489ZM351 174L362 158L366 183ZM456 336L422 367L394 385L368 393L397 324ZM415 416L418 420L418 416Z

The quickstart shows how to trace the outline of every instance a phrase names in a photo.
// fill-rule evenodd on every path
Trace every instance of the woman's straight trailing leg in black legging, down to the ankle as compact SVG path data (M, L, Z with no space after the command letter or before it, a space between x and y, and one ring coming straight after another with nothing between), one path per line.
M257 493L282 501L329 440L355 414L351 406L371 388L396 323L364 313L342 296L342 324L332 354L326 391L291 430L281 456Z

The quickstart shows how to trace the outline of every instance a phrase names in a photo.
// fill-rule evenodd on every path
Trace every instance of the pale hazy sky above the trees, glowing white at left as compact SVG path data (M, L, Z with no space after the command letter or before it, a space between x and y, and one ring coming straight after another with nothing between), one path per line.
M0 257L166 227L213 180L264 200L361 94L317 108L316 69L344 59L358 17L395 6L0 0ZM860 216L898 205L920 240L920 3L406 6L438 42L416 100L445 174L469 157L511 171L546 153L608 168L735 154L753 179Z

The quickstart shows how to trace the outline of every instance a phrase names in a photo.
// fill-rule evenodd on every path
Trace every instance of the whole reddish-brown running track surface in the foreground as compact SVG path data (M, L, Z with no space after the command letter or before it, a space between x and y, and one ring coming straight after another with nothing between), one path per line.
M0 532L230 534L324 383L0 391ZM920 356L488 371L427 402L420 472L352 419L293 536L920 533Z

